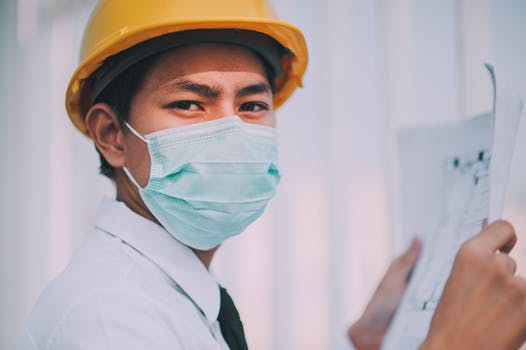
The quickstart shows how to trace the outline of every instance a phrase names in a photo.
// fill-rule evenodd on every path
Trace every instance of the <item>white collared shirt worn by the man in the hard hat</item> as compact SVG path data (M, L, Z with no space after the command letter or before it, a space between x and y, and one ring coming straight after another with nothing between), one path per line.
M42 293L18 349L228 349L215 279L194 252L124 203Z

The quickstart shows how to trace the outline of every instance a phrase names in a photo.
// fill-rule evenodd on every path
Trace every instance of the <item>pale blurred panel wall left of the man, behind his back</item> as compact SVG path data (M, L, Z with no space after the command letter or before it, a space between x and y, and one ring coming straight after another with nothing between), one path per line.
M80 26L91 6L89 1L2 2L2 349L13 348L37 296L92 226L76 220L94 212L90 193L105 189L101 180L83 181L73 193L72 183L90 168L89 158L79 159L75 143L93 149L73 130L64 109Z

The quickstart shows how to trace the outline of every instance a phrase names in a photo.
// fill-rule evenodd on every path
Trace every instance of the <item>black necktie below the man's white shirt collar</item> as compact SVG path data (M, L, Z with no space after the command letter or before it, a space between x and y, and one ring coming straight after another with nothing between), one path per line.
M243 324L239 319L236 306L225 288L219 287L219 290L221 292L221 307L217 320L223 338L232 350L248 350Z

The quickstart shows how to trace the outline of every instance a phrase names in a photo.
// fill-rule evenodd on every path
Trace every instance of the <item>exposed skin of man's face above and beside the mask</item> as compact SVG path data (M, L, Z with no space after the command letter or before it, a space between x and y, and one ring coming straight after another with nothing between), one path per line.
M258 57L239 46L199 44L163 54L135 95L128 122L142 135L237 115L247 123L274 126L273 94ZM126 166L148 183L146 144L124 134Z

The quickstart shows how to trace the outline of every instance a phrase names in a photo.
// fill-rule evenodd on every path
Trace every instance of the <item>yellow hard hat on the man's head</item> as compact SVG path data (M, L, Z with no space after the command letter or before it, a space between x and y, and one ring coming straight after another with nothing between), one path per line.
M264 57L270 56L269 40L275 40L281 46L277 63L280 74L276 78L274 94L274 107L279 107L296 87L302 86L301 79L307 67L308 52L301 31L289 23L278 20L268 1L101 0L86 27L81 47L81 62L73 73L66 92L66 109L69 117L82 133L88 135L84 125L87 111L100 92L100 86L104 87L104 84L109 83L108 80L120 73L119 69L114 69L119 64L106 64L101 68L103 63L111 61L115 55L125 50L133 52L144 43L151 42L154 44L146 48L147 54L156 53L155 46L158 52L159 46L164 45L166 49L168 45L165 40L157 39L171 35L178 35L175 40L180 41L184 41L183 38L186 37L188 43L194 41L187 33L206 30L208 31L206 37L210 38L210 30L227 32L226 30L232 29L235 33L227 33L227 41L239 41L240 39L236 39L239 36L237 32L265 37L267 42L265 39L259 40L250 36L247 37L248 40L241 39L244 44L248 44ZM223 36L220 36L217 40L223 40L222 38ZM202 36L200 39L199 35L195 40L203 41ZM132 58L127 57L121 61L126 61L129 66L130 63L145 58L147 54L144 50L142 52L142 56L126 55ZM126 64L121 66L126 67ZM270 62L270 65L273 65L273 62ZM93 76L101 70L115 70L116 74L113 72L114 74L107 74L99 79L104 83L99 84L97 88L94 86L96 84L93 83Z

